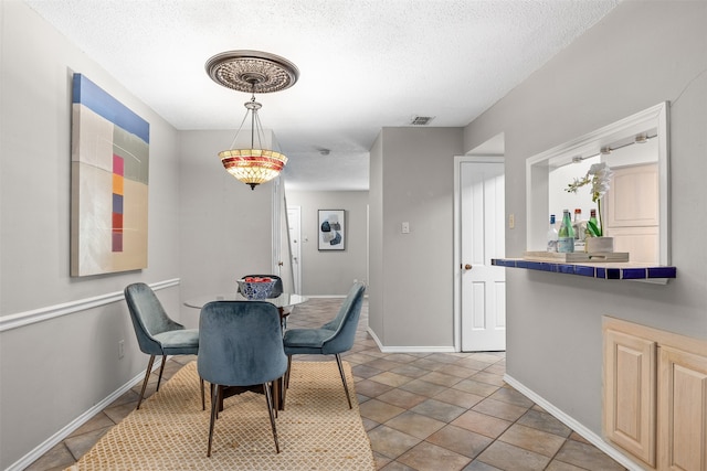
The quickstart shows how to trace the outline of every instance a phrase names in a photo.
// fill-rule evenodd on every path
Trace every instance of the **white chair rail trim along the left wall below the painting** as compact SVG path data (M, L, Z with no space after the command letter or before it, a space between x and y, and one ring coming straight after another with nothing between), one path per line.
M157 291L179 286L179 278L173 278L149 283L149 287ZM61 318L62 315L73 314L74 312L85 311L99 306L110 304L113 302L123 301L125 297L123 296L123 291L115 291L95 296L93 298L77 299L75 301L64 302L61 304L48 306L45 308L4 315L0 318L0 332L22 328L38 322L44 322L50 319Z

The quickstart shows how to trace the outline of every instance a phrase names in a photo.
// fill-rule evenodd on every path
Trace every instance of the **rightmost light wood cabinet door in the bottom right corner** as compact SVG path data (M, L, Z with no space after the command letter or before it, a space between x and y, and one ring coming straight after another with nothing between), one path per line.
M707 471L707 357L659 350L661 469Z

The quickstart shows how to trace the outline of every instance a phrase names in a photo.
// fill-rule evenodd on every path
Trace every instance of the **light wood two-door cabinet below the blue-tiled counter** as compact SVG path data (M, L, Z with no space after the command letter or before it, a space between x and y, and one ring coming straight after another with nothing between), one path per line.
M604 318L604 435L644 468L707 471L707 342Z

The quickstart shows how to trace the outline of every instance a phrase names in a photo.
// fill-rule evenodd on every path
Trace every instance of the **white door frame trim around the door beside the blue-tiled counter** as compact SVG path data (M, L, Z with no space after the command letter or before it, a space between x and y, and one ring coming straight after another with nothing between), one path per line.
M462 351L462 163L505 163L502 156L454 156L454 261L453 307L454 307L454 351ZM504 215L504 218L506 216Z

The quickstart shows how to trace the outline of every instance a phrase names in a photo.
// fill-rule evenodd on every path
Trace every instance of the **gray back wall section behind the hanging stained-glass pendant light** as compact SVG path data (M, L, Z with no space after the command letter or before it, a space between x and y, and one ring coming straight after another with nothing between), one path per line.
M180 275L182 301L229 293L247 274L272 274L273 186L251 190L231 176L218 153L234 131L180 131ZM197 327L199 310L182 307L186 325Z

